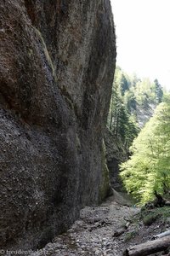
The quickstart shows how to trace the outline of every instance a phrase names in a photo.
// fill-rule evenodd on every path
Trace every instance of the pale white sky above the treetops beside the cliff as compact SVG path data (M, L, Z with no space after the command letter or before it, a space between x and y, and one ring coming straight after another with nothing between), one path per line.
M111 0L116 64L170 90L170 0Z

